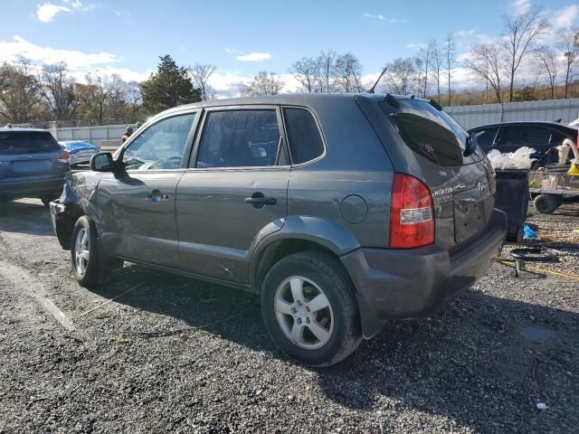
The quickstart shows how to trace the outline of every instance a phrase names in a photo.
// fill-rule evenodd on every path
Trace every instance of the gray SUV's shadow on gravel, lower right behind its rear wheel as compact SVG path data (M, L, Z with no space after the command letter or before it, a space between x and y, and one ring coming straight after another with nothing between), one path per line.
M578 359L578 314L469 290L437 316L386 325L318 381L351 409L388 398L477 432L572 432Z

